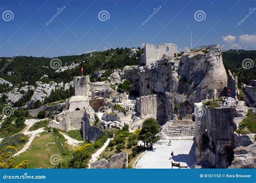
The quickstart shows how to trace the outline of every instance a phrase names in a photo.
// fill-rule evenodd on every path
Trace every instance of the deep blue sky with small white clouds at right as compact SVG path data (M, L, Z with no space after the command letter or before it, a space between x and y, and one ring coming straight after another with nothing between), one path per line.
M190 49L191 35L192 47L255 50L255 7L253 0L1 0L0 56L78 55L130 42L175 43L181 51ZM103 21L100 11L107 12Z

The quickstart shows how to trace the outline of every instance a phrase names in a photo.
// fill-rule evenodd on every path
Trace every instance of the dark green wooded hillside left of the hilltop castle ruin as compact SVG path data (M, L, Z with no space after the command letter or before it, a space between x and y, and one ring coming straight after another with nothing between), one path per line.
M4 68L0 72L0 78L8 80L12 84L22 84L28 82L29 85L34 85L36 81L47 74L49 77L43 79L44 82L70 82L73 76L79 76L80 67L83 65L84 74L90 74L91 79L94 78L94 72L101 70L121 69L125 65L137 65L140 63L140 55L143 50L138 50L136 55L129 57L130 49L111 49L102 52L92 52L83 55L61 56L56 57L61 60L62 66L71 65L72 63L79 63L72 70L65 70L64 72L55 73L56 70L51 69L50 61L52 58L45 57L8 57L0 58L0 67ZM105 77L108 77L111 72L106 72Z

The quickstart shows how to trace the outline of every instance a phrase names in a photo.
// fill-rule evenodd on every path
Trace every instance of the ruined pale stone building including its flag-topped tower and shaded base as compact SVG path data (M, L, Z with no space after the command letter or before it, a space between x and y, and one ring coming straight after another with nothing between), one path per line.
M66 101L65 109L54 116L48 126L63 131L83 130L84 139L95 141L102 131L91 124L96 120L95 111L104 106L111 89L105 82L91 83L89 76L74 77L75 96Z

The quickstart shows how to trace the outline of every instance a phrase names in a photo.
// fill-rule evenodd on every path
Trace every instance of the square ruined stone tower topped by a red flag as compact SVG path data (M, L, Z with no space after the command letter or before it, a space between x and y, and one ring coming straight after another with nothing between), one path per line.
M75 76L73 79L75 85L75 96L86 96L90 90L90 76Z

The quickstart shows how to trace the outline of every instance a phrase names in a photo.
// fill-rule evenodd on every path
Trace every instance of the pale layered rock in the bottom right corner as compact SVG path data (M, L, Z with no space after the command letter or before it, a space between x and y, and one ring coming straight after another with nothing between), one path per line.
M256 143L234 149L234 160L228 168L256 168Z

